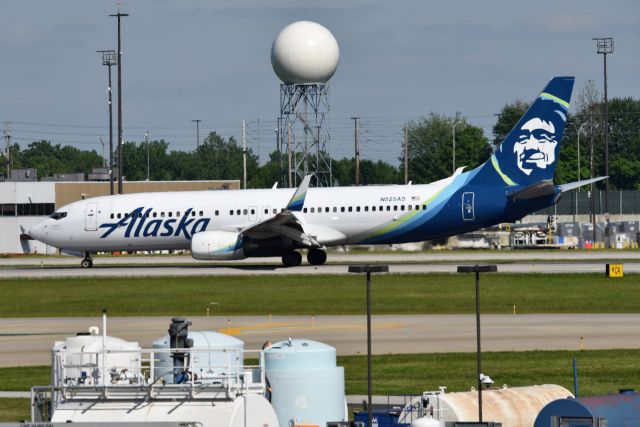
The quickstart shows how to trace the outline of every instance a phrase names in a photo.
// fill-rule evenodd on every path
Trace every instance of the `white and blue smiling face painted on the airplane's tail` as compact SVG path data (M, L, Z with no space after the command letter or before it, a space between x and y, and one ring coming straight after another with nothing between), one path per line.
M530 175L535 169L546 169L556 161L556 129L553 123L536 117L520 128L520 136L513 146L518 168Z

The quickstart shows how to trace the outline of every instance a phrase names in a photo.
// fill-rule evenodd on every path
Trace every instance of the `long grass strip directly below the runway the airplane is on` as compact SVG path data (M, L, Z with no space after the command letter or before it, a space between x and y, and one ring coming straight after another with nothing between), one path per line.
M637 275L494 274L482 279L482 311L635 313ZM362 314L364 278L345 276L0 280L0 317ZM458 314L475 310L472 275L379 275L375 314Z

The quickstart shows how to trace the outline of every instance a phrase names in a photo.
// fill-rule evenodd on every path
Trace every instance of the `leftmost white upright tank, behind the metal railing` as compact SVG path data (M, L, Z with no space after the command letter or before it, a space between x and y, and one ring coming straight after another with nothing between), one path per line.
M82 333L68 337L54 344L51 352L54 358L60 358L59 372L64 378L53 378L53 384L65 381L66 384L117 384L128 382L140 374L140 346L137 342L120 338ZM109 351L102 355L103 347ZM100 372L104 368L106 382ZM52 374L55 374L52 372Z

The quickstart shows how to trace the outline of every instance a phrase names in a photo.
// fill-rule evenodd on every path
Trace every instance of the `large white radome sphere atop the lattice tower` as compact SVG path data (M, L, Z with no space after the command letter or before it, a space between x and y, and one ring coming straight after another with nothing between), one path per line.
M340 49L329 30L298 21L280 31L271 45L271 65L283 83L326 83L338 68Z

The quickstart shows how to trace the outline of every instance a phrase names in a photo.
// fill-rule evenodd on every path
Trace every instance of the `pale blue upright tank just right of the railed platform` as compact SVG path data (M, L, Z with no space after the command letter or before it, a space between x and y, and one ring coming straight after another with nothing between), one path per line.
M324 426L346 421L344 369L327 344L289 339L266 348L265 364L273 405L281 426Z

